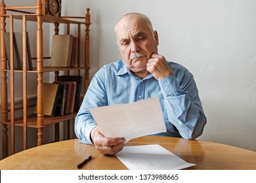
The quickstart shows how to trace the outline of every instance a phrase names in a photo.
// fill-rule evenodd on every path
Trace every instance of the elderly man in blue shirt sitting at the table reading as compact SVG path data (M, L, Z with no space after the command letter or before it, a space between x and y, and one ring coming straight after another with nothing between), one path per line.
M155 135L196 139L206 118L193 75L182 65L158 54L158 32L147 16L125 14L116 24L121 60L104 65L93 77L75 118L80 142L94 144L102 154L116 154L125 139L106 138L89 108L159 97L166 133ZM139 123L139 122L138 122Z

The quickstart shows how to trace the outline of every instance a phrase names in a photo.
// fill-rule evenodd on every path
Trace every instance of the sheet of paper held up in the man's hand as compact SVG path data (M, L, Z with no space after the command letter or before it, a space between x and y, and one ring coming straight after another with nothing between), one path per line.
M105 137L124 137L128 142L137 137L166 131L158 98L89 110Z

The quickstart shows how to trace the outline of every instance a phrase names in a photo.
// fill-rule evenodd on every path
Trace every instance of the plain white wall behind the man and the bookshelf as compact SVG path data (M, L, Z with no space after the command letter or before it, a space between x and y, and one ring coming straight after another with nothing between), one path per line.
M36 2L5 0L11 6ZM181 63L194 75L207 116L198 139L256 151L256 1L62 0L62 15L83 16L87 7L91 8L92 23L91 77L102 65L121 58L114 34L117 20L127 12L142 12L158 31L159 54ZM53 25L46 25L46 53L53 33ZM35 45L33 38L30 44ZM19 87L15 89L17 97L22 95ZM52 133L51 128L46 129L46 142L53 139Z

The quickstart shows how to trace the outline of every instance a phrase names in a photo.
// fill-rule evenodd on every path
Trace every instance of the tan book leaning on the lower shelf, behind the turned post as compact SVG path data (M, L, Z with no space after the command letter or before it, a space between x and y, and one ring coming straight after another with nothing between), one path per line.
M45 116L55 116L58 98L60 95L60 86L53 83L43 83L43 114ZM37 113L37 104L35 106Z

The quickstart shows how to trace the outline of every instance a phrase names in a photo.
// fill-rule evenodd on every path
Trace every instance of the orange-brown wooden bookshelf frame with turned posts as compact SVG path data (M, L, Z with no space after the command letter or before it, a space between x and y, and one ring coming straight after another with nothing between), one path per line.
M30 9L35 10L35 12L26 12L24 10ZM3 136L2 136L2 146L3 146L3 158L9 156L9 137L8 137L8 126L11 128L11 154L14 154L14 126L23 126L23 148L27 148L27 127L37 128L37 146L43 144L43 127L47 125L58 124L59 122L64 122L75 118L77 112L74 114L67 114L64 116L44 116L43 115L43 73L54 72L55 79L58 76L59 71L66 71L68 75L69 71L77 71L77 75L81 74L81 70L85 71L85 92L89 86L89 69L90 69L90 38L89 38L89 27L91 25L91 15L89 13L89 8L83 17L77 16L49 16L42 14L42 3L41 0L37 0L37 4L34 7L6 7L4 0L1 0L0 5L0 54L1 54L1 124L3 125ZM16 14L7 14L7 12L14 12ZM11 66L7 69L7 56L5 49L4 34L6 32L6 18L9 18L10 33L13 32L13 20L19 19L22 21L22 33L23 33L23 70L17 71L13 69L13 44L12 44L12 34L10 34L10 48L11 48ZM79 22L75 19L84 19L85 22ZM36 55L36 67L33 71L26 70L26 22L32 21L36 22L37 26L37 55ZM70 24L77 25L77 37L78 37L78 48L77 48L77 66L75 67L44 67L43 60L47 57L43 56L43 23L54 24L55 34L58 34L58 26L60 24L66 24L67 33L70 33ZM81 42L81 25L85 25L85 58L84 66L80 65L79 59L79 48ZM49 58L49 57L48 57ZM10 109L8 105L8 92L7 92L7 73L10 73ZM23 84L23 117L16 119L14 115L14 74L17 72L22 73L22 84ZM37 75L37 115L29 116L27 114L27 73L35 73ZM10 113L10 114L9 114Z

